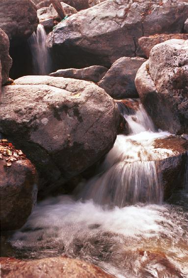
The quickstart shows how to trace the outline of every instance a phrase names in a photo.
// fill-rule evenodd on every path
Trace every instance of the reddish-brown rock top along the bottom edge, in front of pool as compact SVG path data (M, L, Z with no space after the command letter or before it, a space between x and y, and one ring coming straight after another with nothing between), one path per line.
M0 264L2 278L113 278L93 264L64 257L33 261L1 257Z

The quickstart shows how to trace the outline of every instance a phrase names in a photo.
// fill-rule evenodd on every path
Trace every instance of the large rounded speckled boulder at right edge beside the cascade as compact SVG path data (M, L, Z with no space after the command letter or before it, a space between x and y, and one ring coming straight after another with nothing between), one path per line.
M138 70L135 85L158 128L188 133L188 41L156 45Z

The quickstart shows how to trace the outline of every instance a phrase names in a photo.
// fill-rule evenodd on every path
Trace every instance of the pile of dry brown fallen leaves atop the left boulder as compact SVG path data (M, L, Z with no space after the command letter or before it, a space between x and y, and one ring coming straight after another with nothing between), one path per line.
M12 143L8 143L7 139L0 140L0 159L6 160L5 167L10 167L13 161L26 159L26 154L21 150L15 149Z

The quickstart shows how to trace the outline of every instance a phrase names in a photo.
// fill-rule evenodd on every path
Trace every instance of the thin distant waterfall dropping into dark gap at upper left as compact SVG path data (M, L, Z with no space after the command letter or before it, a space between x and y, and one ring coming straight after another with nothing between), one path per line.
M36 32L28 39L35 75L48 75L50 73L51 59L46 44L46 38L47 34L44 26L39 24Z

